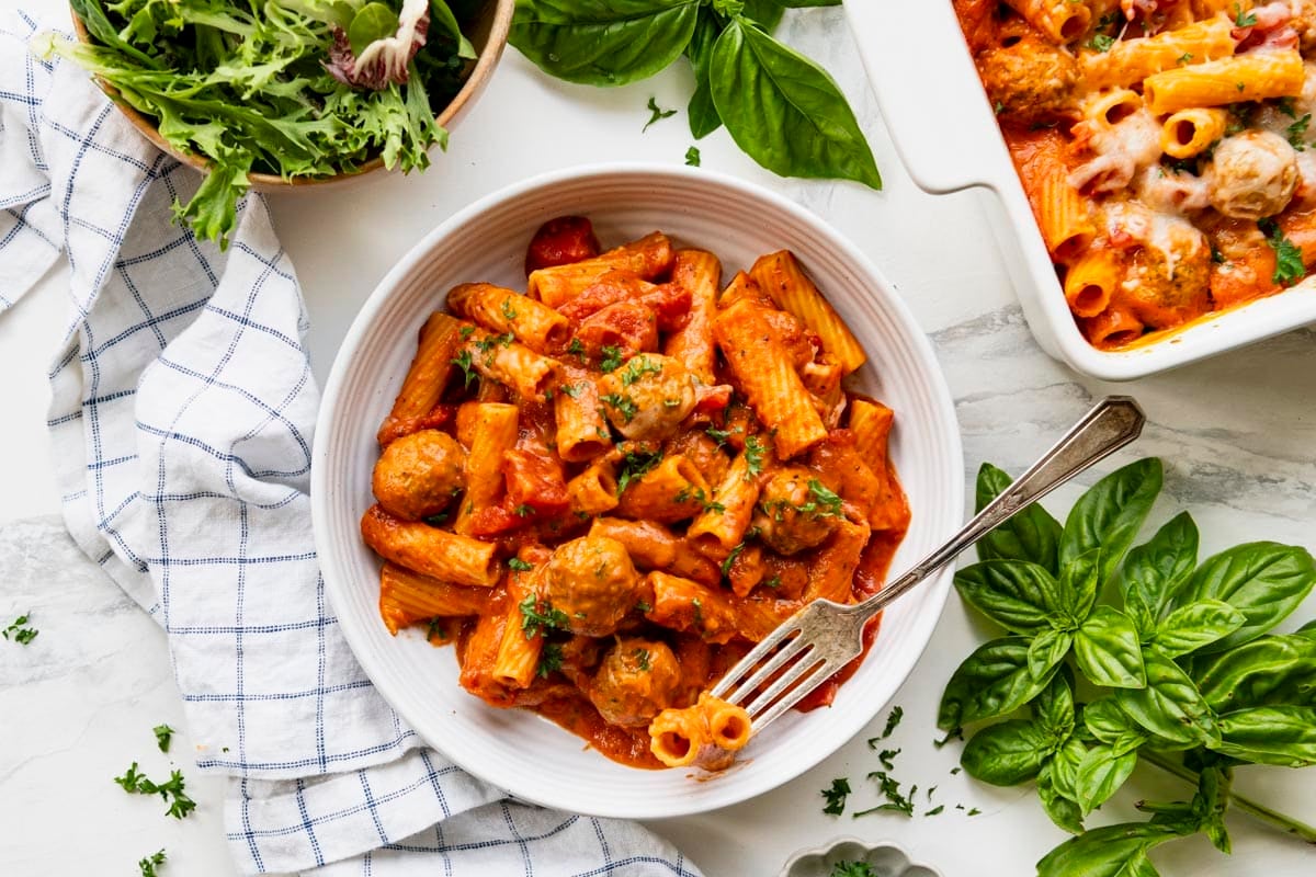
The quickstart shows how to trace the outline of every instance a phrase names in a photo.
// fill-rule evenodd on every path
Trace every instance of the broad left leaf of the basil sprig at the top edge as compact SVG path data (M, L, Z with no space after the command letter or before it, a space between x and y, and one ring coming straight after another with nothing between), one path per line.
M586 85L653 76L690 43L699 0L516 0L508 42L546 74Z

